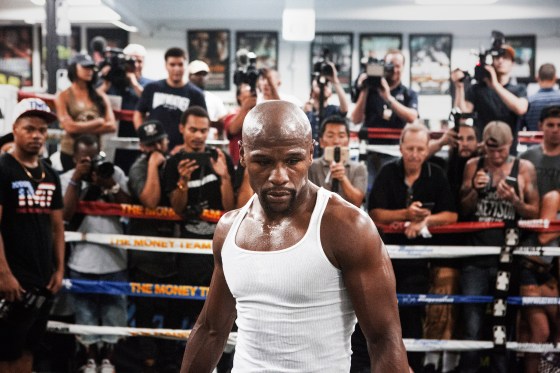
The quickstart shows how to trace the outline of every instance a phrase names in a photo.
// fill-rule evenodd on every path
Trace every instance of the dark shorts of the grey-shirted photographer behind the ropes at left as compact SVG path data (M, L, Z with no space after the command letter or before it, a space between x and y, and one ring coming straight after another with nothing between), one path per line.
M126 271L106 274L81 273L70 270L69 276L76 280L90 281L127 281ZM124 295L79 294L72 293L76 324L100 326L126 326L127 311ZM78 335L77 339L85 346L98 342L115 344L119 340L116 335Z

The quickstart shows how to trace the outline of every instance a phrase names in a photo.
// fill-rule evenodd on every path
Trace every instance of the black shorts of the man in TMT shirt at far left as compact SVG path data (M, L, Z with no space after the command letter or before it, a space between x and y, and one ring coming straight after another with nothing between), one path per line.
M46 294L40 307L12 303L6 317L0 319L0 361L19 359L23 351L34 352L47 330L52 296Z

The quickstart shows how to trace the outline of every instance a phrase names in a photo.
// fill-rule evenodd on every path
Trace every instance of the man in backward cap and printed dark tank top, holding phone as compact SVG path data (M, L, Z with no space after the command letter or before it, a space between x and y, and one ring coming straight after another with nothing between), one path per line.
M493 121L482 135L485 155L470 159L465 167L461 187L462 214L470 221L503 222L539 216L539 192L535 167L527 160L509 154L513 134L508 123ZM503 246L505 230L485 229L469 235L473 246ZM491 293L496 286L497 256L472 256L463 260L461 288L464 295ZM485 305L463 306L466 340L483 337ZM506 372L504 354L492 354L492 371ZM464 352L461 372L478 372L479 351Z

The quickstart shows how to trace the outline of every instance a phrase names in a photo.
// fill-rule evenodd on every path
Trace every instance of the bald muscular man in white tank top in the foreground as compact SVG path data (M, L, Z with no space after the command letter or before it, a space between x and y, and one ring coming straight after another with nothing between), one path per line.
M181 372L212 372L237 318L233 372L347 373L356 317L371 371L408 372L387 251L364 212L308 180L303 111L261 103L242 139L255 194L218 223L210 292Z

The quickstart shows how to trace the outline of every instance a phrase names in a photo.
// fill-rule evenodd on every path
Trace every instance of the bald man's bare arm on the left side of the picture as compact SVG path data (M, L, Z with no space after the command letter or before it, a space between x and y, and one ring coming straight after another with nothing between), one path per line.
M212 372L222 356L235 321L235 299L226 283L222 265L222 246L235 216L236 212L224 215L214 233L214 273L210 291L189 336L181 373Z

